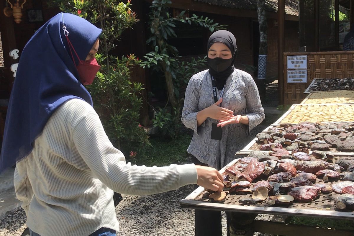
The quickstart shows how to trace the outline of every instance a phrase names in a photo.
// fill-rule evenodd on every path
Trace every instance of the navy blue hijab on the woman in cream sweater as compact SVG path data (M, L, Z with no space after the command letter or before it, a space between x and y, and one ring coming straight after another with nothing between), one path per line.
M13 84L0 155L0 173L27 156L53 112L69 99L92 105L65 39L64 24L81 60L85 60L101 29L85 19L59 13L45 23L24 47ZM78 58L74 57L78 64Z

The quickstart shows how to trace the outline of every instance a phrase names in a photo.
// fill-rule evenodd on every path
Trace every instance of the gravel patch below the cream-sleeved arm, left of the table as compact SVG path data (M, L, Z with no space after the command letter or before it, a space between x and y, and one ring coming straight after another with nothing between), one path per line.
M193 191L192 185L162 194L127 196L116 207L121 235L194 235L194 210L179 206Z

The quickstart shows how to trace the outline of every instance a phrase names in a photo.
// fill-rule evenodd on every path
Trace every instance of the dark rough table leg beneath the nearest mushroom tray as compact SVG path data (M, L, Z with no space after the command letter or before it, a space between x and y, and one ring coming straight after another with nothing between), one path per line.
M230 236L253 236L251 227L257 214L227 212Z

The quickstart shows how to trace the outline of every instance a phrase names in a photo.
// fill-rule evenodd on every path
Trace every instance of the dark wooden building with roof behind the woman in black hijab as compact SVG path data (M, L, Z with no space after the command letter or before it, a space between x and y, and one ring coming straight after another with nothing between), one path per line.
M151 0L145 0L151 2ZM258 65L259 29L256 0L179 0L172 1L171 7L177 10L187 10L190 15L205 16L214 19L219 24L227 25L237 41L238 58L236 67L244 68L243 65ZM268 17L268 68L267 76L278 75L278 7L277 0L266 1ZM285 48L290 52L299 49L298 38L298 1L289 0L285 8ZM138 17L139 17L139 12ZM146 14L146 13L145 13ZM143 19L146 22L146 19ZM181 26L183 27L183 26ZM206 54L206 44L210 36L207 29L189 30L188 26L177 36L176 46L182 56L197 56Z

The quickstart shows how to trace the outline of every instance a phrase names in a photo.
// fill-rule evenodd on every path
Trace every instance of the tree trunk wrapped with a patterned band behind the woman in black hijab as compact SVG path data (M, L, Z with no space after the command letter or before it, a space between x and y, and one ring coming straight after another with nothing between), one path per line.
M265 101L265 75L267 74L267 31L268 23L265 17L265 0L257 0L258 25L259 25L259 55L257 84L261 101Z

